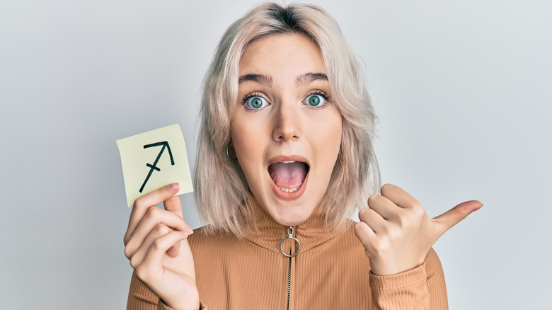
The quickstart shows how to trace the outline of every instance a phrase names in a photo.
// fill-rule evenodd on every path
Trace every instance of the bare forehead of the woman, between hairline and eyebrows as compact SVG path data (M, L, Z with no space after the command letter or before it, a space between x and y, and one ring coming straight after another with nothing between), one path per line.
M239 74L294 75L326 73L318 46L306 35L270 35L252 42L243 52Z

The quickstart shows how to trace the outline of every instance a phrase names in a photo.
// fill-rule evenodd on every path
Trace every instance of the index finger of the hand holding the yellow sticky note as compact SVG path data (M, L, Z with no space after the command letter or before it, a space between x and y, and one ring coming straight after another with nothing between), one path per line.
M178 183L172 183L172 184L163 186L162 188L158 188L153 192L142 195L136 198L136 200L134 200L134 205L132 206L132 212L130 212L130 219L128 221L127 232L125 234L125 243L127 239L130 236L132 236L134 229L136 229L136 226L142 220L142 217L144 217L144 214L146 214L147 210L150 207L159 205L159 203L173 197L176 193L178 193L179 188L180 186L178 185ZM180 197L178 198L178 201L180 202ZM180 205L180 217L182 217L181 205Z

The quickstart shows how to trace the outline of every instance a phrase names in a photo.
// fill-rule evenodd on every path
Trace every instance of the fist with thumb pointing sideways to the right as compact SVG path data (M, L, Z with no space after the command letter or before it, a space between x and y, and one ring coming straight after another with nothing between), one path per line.
M381 195L370 196L368 207L360 210L355 234L366 249L372 273L393 275L422 265L445 231L482 206L477 200L462 202L432 219L405 190L386 184Z

